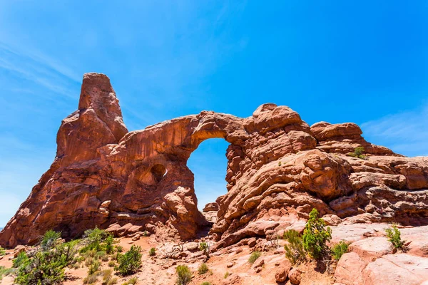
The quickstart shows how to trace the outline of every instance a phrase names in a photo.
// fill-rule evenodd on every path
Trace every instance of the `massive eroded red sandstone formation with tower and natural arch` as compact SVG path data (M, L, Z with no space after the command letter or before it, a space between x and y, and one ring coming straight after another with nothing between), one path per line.
M54 163L0 244L32 244L48 229L76 237L95 226L118 235L138 229L160 239L195 238L207 221L186 162L209 138L230 142L213 249L302 229L313 207L335 224L427 224L428 158L396 155L361 135L352 123L310 127L275 104L249 118L203 111L128 133L110 81L88 73L78 110L58 130ZM346 155L359 146L366 160Z

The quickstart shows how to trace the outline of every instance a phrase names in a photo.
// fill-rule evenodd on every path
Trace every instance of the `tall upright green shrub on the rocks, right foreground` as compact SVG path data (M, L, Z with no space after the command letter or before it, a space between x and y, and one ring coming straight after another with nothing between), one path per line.
M302 237L305 251L314 259L327 255L327 242L332 238L332 230L325 229L325 222L318 215L317 209L312 209Z

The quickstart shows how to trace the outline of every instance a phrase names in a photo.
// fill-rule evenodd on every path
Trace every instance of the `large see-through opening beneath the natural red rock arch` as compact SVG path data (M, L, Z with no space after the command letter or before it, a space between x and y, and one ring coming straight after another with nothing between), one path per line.
M190 155L187 165L195 177L195 195L198 199L198 209L202 212L207 226L201 229L200 237L206 236L217 219L215 200L225 195L225 181L228 159L226 150L229 143L223 138L204 140ZM210 207L205 206L210 204ZM204 211L205 208L205 211Z

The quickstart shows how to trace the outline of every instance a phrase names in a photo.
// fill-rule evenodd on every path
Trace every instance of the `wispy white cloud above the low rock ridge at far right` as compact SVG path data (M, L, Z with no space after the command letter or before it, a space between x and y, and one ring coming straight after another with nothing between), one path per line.
M365 138L403 155L428 155L428 104L361 125Z

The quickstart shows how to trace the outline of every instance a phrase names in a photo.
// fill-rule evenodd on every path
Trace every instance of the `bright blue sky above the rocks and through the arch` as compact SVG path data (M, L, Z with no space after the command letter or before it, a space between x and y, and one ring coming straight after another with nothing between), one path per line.
M428 155L427 3L0 1L0 227L49 168L91 71L111 78L129 130L272 102ZM226 148L190 157L200 204L225 193Z

